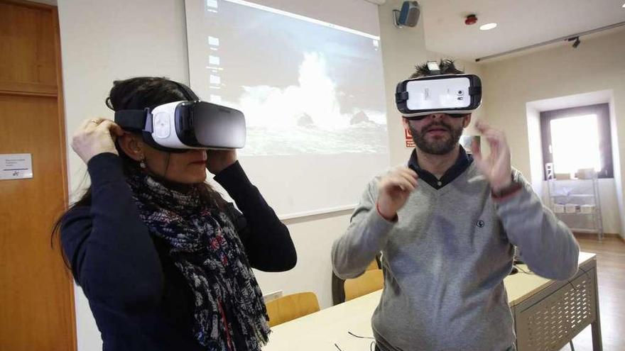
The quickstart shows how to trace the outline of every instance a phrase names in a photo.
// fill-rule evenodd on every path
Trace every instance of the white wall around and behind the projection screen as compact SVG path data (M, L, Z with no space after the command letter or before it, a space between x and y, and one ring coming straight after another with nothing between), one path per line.
M342 1L344 5L360 0ZM283 2L296 12L295 1ZM305 12L322 9L337 18L349 12L336 11L336 6L322 6L320 1L299 2ZM104 98L114 79L151 75L189 82L182 0L59 0L58 3L67 145L83 119L112 118L112 111L104 106ZM392 24L391 9L400 6L400 0L389 0L379 13L391 164L406 162L410 154L403 147L403 127L393 97L395 84L411 74L415 63L425 60L423 24L401 30ZM71 150L67 150L67 155L70 189L75 196L86 167ZM330 246L347 228L349 211L295 218L285 223L298 251L298 266L286 273L258 272L261 288L265 292L283 290L286 294L314 291L322 308L331 306ZM75 291L78 348L102 350L85 296L80 288Z

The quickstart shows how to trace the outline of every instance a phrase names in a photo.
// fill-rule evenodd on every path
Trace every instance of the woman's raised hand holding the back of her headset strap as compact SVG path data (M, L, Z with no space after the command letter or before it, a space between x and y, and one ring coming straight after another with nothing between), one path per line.
M85 162L104 152L119 155L115 139L123 135L120 126L106 118L89 118L82 122L72 136L72 149Z

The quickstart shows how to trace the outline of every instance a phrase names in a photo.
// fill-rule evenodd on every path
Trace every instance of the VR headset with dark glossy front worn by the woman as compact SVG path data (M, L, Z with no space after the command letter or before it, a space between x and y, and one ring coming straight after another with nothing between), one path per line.
M188 100L115 111L115 123L124 130L141 132L148 145L167 152L245 146L245 117L241 111L200 101L191 89L174 83Z

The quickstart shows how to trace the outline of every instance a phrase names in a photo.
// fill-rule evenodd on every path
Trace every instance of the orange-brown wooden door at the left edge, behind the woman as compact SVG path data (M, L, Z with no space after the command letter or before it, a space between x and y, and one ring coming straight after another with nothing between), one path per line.
M76 350L73 284L50 230L67 205L58 12L0 0L0 154L33 178L0 180L0 350Z

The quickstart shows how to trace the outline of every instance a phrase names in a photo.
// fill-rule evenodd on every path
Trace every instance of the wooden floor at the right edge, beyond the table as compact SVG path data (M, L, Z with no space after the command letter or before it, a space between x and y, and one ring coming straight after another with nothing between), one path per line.
M592 235L577 235L577 241L582 251L597 254L603 350L625 351L625 242L613 236L599 242ZM575 351L592 350L590 326L573 339L573 346Z

